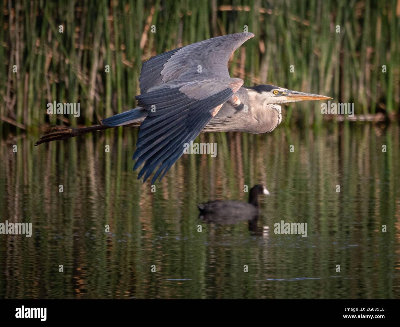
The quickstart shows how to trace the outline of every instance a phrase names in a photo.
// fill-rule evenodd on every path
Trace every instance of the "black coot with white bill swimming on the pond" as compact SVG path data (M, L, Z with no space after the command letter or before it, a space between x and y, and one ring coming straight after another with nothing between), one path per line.
M200 210L200 218L206 220L212 219L214 222L222 224L230 224L230 220L238 218L242 220L252 220L258 216L258 195L270 193L262 185L254 186L249 193L249 202L230 201L230 200L216 200L198 204Z

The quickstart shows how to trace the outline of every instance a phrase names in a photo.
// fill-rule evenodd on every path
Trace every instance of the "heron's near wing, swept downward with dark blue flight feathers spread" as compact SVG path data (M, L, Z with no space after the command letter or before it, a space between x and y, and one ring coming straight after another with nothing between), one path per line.
M143 165L144 181L159 166L152 183L161 178L194 141L218 110L242 86L238 78L204 79L165 87L138 95L138 105L148 115L140 125L134 170Z

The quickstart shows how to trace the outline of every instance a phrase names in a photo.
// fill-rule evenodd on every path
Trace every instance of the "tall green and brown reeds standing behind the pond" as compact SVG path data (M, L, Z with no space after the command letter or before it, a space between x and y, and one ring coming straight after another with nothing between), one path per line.
M143 61L246 26L255 37L230 61L231 75L244 85L330 95L354 103L356 115L399 114L400 0L3 0L0 6L2 133L91 125L131 109ZM80 117L47 115L53 101L79 102ZM286 124L322 124L320 105L296 108L285 111Z

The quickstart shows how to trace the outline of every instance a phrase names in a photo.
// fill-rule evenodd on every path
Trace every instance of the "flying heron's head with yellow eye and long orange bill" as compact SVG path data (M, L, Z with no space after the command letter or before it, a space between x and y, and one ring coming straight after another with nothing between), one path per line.
M291 91L275 85L257 85L250 87L250 89L258 93L258 98L263 101L264 104L332 99L324 95Z

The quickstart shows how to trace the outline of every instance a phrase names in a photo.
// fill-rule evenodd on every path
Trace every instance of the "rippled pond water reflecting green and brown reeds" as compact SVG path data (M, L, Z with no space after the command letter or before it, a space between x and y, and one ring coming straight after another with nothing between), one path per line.
M328 128L200 135L216 157L184 155L155 192L132 172L135 129L3 139L0 222L33 232L0 235L0 298L400 298L399 128ZM198 218L258 183L255 230ZM275 234L281 220L308 236Z

